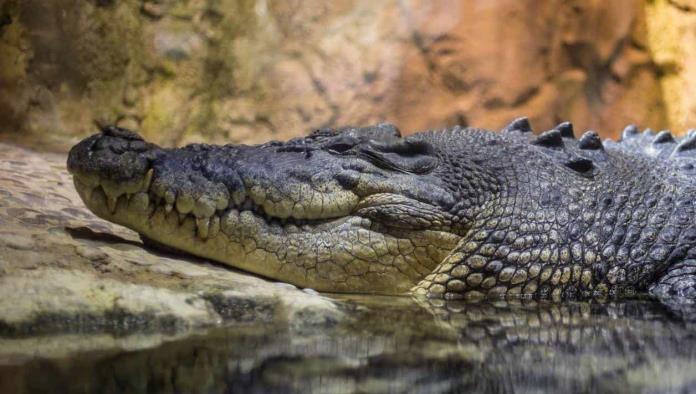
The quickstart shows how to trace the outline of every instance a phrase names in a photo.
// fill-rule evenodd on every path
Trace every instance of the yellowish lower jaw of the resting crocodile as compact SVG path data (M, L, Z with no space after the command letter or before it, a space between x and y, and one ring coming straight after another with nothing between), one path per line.
M74 180L85 204L103 219L177 250L323 291L405 293L460 239L444 231L385 231L354 215L277 219L248 204L201 218L153 201L147 182L109 197L100 184Z

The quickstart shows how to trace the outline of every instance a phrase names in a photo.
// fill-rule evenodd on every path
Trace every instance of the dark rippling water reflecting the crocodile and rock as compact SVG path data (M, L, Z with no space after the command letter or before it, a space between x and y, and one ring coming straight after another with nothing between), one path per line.
M696 322L654 301L339 300L346 318L329 327L245 324L145 350L4 360L0 390L696 392ZM70 338L44 347L84 340Z

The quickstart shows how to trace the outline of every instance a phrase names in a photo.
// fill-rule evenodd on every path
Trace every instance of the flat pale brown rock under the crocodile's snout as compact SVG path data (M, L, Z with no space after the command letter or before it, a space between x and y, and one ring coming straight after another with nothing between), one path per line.
M227 323L302 329L341 318L316 293L144 249L82 206L64 162L0 144L0 337L135 333L158 343ZM98 338L85 346L104 348ZM0 360L16 347L5 345Z

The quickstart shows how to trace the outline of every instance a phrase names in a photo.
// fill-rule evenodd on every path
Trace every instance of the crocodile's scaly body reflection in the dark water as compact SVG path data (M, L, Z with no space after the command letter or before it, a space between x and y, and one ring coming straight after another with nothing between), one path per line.
M419 302L457 333L460 350L514 392L692 392L696 321L687 305L650 301L467 304Z

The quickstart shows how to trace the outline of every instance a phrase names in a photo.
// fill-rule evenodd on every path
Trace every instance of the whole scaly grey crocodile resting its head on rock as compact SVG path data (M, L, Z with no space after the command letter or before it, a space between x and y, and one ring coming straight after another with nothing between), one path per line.
M92 212L144 242L300 287L696 300L696 130L614 142L518 118L170 149L108 126L67 166Z

